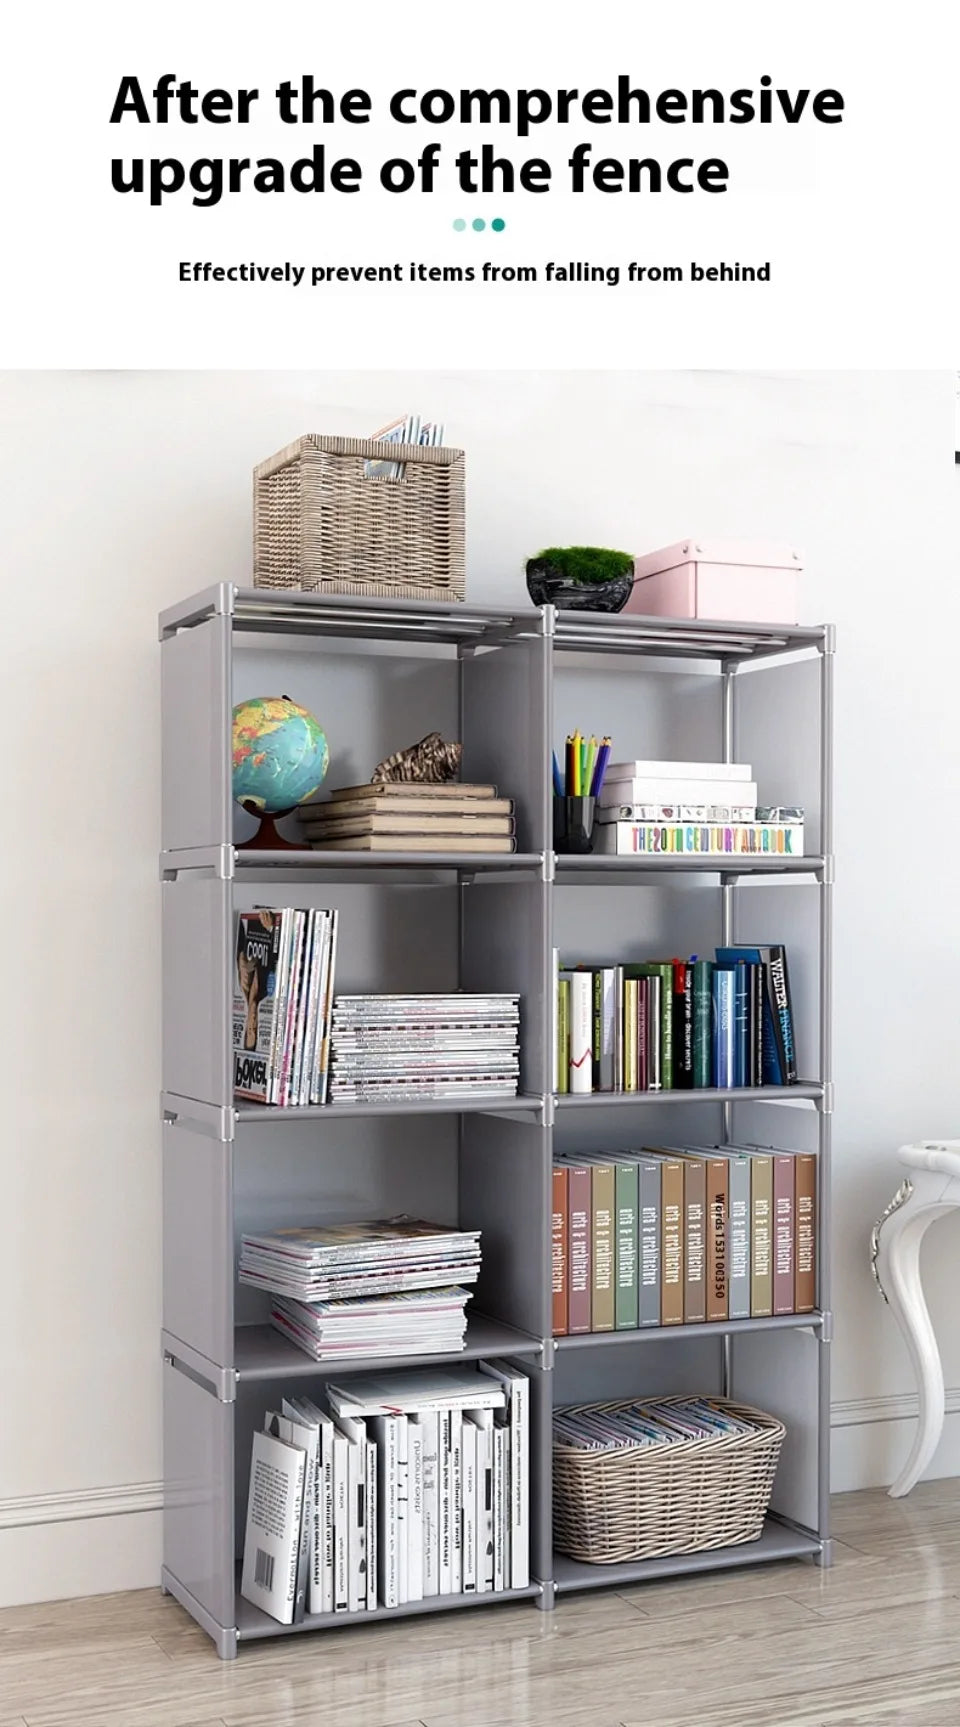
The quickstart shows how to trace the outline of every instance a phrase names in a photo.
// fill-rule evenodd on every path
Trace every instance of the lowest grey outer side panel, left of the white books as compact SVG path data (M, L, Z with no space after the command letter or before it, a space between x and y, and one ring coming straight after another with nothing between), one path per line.
M233 1404L164 1361L164 1565L235 1623Z

